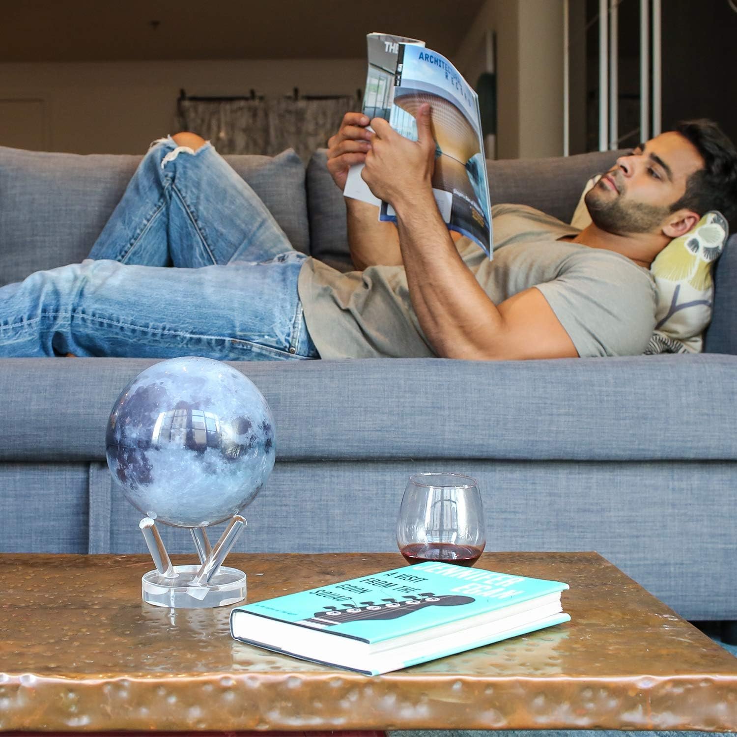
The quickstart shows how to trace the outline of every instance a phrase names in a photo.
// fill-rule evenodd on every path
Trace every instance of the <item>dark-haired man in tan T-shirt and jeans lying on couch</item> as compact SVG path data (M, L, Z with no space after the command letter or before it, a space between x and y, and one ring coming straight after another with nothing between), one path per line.
M737 152L708 122L620 158L587 195L583 231L530 208L495 209L495 260L441 220L429 111L411 142L348 113L331 139L398 214L349 200L355 265L291 248L209 142L155 142L88 259L0 288L0 356L197 354L223 360L639 354L654 328L648 267L709 209L737 207ZM32 214L29 214L31 216ZM175 268L164 268L173 263Z

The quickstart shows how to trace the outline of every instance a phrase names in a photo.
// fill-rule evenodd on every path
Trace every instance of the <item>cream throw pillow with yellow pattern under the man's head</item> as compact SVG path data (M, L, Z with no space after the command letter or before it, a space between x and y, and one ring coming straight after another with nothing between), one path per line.
M598 178L591 178L584 186L570 223L574 228L583 229L591 223L584 197ZM712 210L691 231L674 238L657 254L650 266L658 296L656 324L646 354L702 350L703 333L713 307L712 266L728 234L727 220Z

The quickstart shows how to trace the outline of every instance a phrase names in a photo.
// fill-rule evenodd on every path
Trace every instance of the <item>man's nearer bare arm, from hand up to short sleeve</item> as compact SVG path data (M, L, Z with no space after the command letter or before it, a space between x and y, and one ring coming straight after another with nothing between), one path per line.
M435 351L448 358L573 358L579 353L556 313L531 286L495 304L453 245L433 197L437 144L430 105L417 109L417 140L385 120L374 136L363 179L397 212L399 248L412 307Z

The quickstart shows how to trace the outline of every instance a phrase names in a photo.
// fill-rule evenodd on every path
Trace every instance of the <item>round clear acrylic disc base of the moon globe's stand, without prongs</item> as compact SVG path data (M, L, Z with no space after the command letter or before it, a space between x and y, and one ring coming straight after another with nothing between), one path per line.
M237 568L221 566L204 586L189 586L197 576L199 565L175 565L175 576L162 576L158 570L144 573L141 593L147 604L175 609L225 607L245 599L245 573Z

